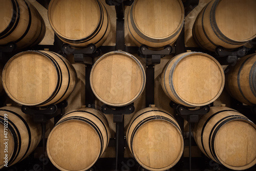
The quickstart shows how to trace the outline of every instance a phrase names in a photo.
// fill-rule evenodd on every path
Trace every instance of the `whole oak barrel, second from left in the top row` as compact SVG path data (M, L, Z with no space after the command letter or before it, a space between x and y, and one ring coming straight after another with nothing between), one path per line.
M51 0L48 18L55 34L75 47L100 46L110 32L110 18L98 0Z

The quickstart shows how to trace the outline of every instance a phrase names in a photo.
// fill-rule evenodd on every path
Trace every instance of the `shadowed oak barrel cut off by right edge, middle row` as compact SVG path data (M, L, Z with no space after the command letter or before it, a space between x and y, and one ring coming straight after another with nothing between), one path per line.
M225 88L234 99L247 104L256 104L256 54L241 58L229 67Z

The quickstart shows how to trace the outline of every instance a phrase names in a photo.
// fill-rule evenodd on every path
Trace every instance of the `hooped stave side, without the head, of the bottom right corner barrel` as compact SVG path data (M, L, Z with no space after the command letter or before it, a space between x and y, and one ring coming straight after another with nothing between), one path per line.
M247 165L242 165L242 166L228 165L221 158L218 158L218 154L216 154L217 152L214 150L216 149L216 146L212 145L214 144L214 140L216 139L216 136L218 133L216 131L219 131L224 125L229 124L229 121L243 121L245 123L250 124L256 130L256 125L254 125L254 123L252 123L251 120L249 120L246 116L239 113L238 111L228 107L214 106L214 107L210 107L209 113L207 113L206 115L203 115L203 117L200 118L199 122L194 125L193 135L195 137L195 141L199 149L204 153L204 155L214 160L215 162L222 164L225 167L233 170L248 169L252 167L254 164L256 164L256 158ZM210 134L209 134L209 131L206 132L205 130L211 130ZM206 137L206 139L203 139L203 137ZM209 144L211 144L210 148L209 148Z

